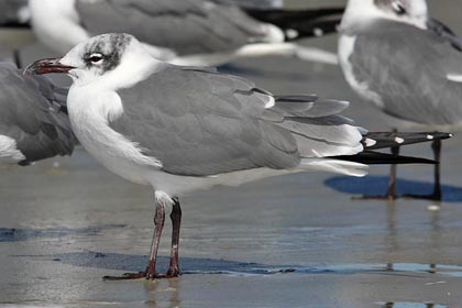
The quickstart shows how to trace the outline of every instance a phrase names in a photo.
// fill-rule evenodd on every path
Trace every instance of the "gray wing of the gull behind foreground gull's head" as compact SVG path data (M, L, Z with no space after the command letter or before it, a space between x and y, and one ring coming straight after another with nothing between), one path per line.
M265 28L238 7L204 0L78 0L90 33L124 32L178 55L232 52L267 40Z

